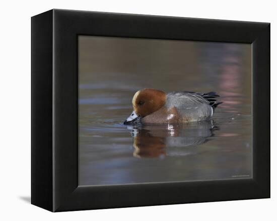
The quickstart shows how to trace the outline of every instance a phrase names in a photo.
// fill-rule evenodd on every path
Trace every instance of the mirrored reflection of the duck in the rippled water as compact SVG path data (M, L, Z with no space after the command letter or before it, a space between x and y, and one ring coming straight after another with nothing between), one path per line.
M201 145L214 136L214 130L219 129L212 120L191 124L135 125L127 128L133 137L133 156L139 158L179 155L170 148ZM184 154L186 155L182 153Z

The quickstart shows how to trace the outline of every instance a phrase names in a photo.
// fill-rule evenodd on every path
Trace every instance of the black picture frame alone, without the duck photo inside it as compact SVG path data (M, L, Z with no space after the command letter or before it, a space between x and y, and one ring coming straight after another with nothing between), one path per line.
M270 197L270 24L50 10L32 25L31 203L50 211ZM252 44L253 178L78 186L78 35Z

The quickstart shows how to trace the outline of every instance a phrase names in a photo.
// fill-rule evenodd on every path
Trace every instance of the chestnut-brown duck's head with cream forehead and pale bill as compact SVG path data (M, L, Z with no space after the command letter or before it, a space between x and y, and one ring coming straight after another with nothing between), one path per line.
M125 125L138 123L140 120L158 111L166 101L166 93L161 90L145 88L136 91L132 99L133 112L124 121Z

